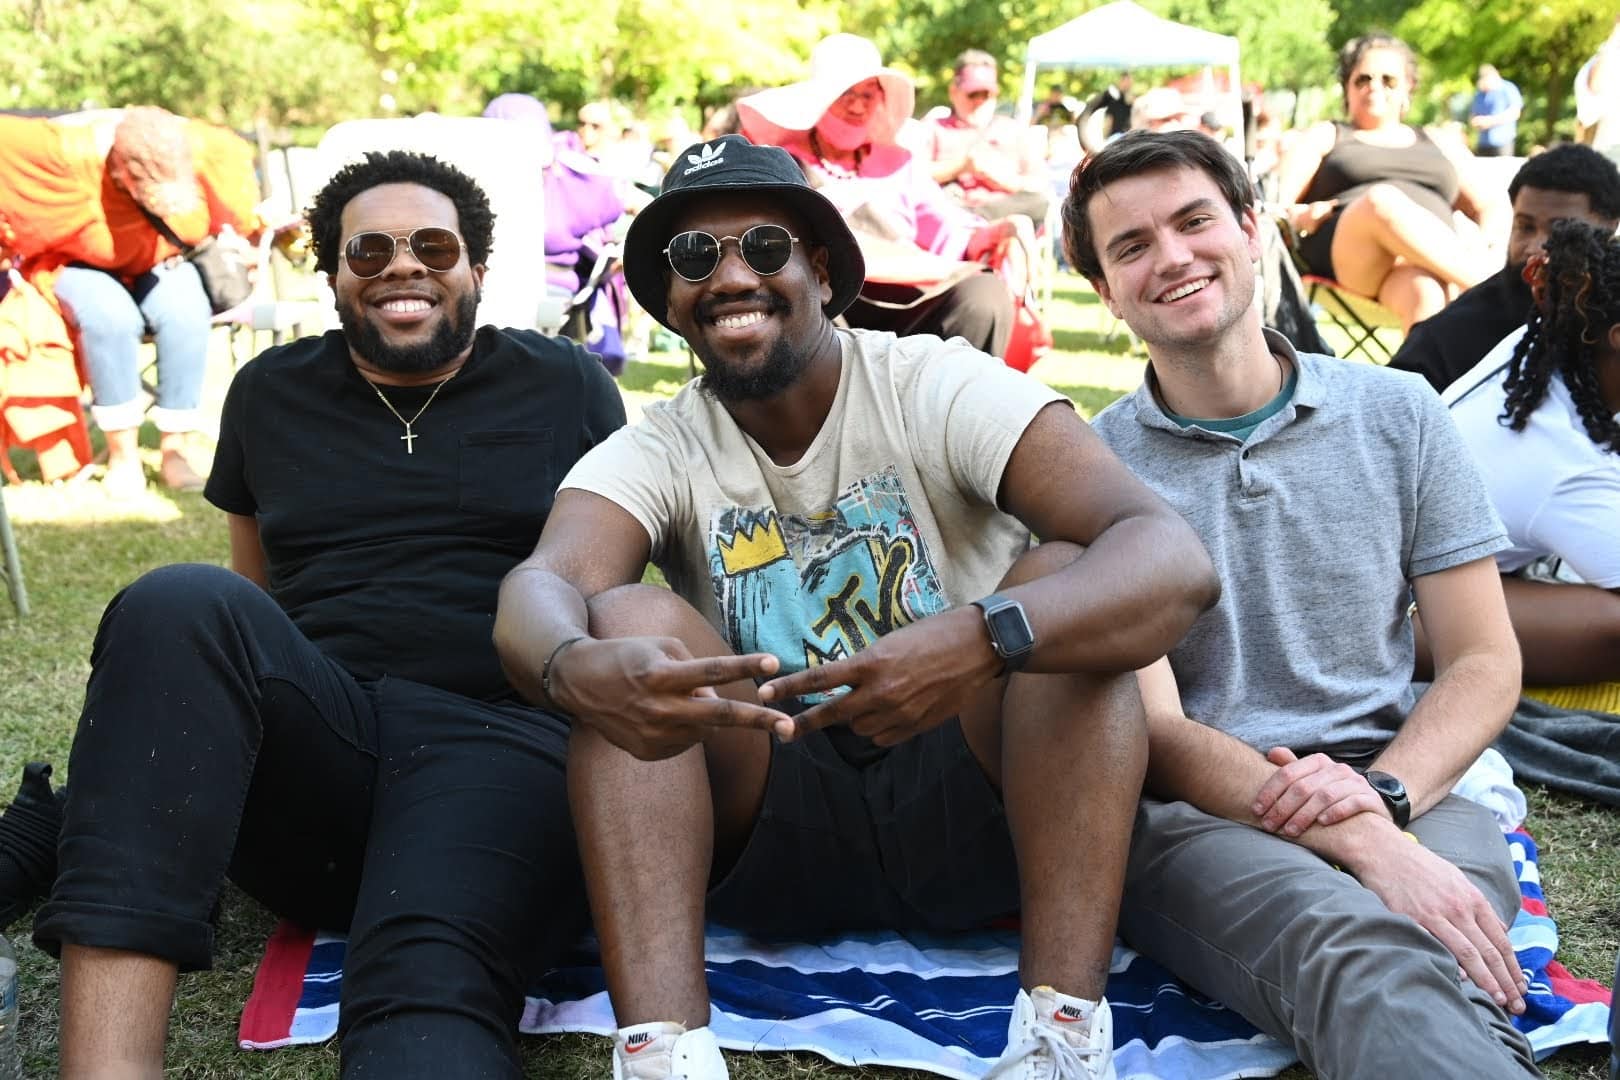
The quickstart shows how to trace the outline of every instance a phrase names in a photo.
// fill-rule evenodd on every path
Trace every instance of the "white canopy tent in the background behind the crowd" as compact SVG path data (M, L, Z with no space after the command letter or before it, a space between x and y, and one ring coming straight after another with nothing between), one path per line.
M1024 53L1024 91L1017 118L1035 108L1040 68L1176 68L1225 66L1228 92L1221 121L1243 130L1243 84L1238 79L1238 39L1158 18L1131 0L1116 0L1030 39ZM1212 87L1213 89L1213 87ZM1213 94L1209 94L1213 97Z

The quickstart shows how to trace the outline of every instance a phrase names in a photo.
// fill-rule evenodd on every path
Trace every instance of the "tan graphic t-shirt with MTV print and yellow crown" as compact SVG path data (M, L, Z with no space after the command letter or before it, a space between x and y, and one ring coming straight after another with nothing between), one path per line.
M995 505L1001 473L1064 400L961 340L839 337L833 410L794 465L693 382L562 481L635 517L671 588L784 674L991 593L1030 542Z

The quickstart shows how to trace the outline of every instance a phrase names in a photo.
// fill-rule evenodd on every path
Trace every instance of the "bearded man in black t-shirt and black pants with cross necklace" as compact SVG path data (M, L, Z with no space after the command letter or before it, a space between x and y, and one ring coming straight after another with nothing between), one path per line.
M309 223L343 329L230 387L207 484L230 570L147 573L97 631L34 925L65 1075L160 1074L227 874L348 931L345 1075L522 1075L525 983L583 926L567 725L489 635L624 405L578 347L475 330L492 214L458 170L368 154Z

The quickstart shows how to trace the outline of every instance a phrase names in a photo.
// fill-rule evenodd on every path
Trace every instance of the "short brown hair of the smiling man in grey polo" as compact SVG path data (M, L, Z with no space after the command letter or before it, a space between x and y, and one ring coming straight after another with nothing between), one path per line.
M1160 168L1197 168L1215 181L1233 215L1254 206L1254 185L1243 165L1202 131L1128 131L1081 162L1063 199L1063 254L1069 266L1095 280L1103 275L1092 235L1092 196L1118 180Z

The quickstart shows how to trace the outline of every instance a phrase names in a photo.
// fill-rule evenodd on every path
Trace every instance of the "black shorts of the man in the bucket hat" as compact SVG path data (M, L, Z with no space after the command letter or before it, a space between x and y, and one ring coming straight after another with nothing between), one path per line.
M766 936L969 929L1017 907L1006 810L954 717L867 764L823 732L773 743L753 834L708 900Z

